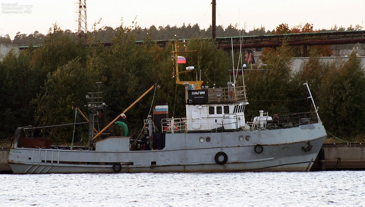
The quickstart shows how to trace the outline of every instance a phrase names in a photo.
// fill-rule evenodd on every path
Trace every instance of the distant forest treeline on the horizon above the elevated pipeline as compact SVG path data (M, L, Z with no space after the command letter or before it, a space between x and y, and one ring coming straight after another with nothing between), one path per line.
M100 21L99 21L100 22ZM100 28L96 28L99 23L95 23L92 27L92 31L87 32L87 36L92 36L96 38L101 43L112 43L113 39L116 37L118 30L120 27L113 28L110 26L103 26ZM181 27L175 26L158 26L155 25L150 26L149 28L141 28L137 24L134 24L131 27L131 31L135 35L135 39L137 41L145 40L145 39L153 39L153 40L172 40L175 37L175 34L179 36L179 38L209 38L211 37L212 28L200 28L198 24L188 24L187 26L182 25ZM330 29L313 29L313 24L306 23L294 26L289 28L289 26L285 23L278 25L274 30L266 30L265 27L260 26L259 28L255 28L253 30L245 31L243 28L239 28L238 24L228 25L224 28L222 25L216 26L216 36L217 37L231 37L231 36L250 36L250 35L265 35L265 34L285 34L285 33L301 33L301 32L326 32L326 31L358 31L362 30L362 26L360 25L350 25L347 28L343 26L334 25ZM73 32L69 29L65 29L62 31L64 35L70 36L72 39L77 39L77 32ZM17 32L16 35L12 38L9 34L0 35L0 43L14 43L19 44L21 46L39 46L45 43L45 39L48 34L42 34L39 31L34 31L32 34L25 34L21 32Z

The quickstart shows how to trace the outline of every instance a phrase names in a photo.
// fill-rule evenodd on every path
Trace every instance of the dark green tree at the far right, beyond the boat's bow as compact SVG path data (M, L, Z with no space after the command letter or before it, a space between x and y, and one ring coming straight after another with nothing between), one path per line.
M332 65L322 80L319 114L325 128L335 135L363 134L365 123L365 76L353 50L344 64ZM351 141L351 140L350 140Z

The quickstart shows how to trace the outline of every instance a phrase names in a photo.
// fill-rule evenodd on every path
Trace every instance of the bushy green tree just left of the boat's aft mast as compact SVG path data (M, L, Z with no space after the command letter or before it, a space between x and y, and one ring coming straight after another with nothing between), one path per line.
M94 79L92 72L83 67L80 59L76 58L48 74L45 92L32 101L37 106L35 120L40 126L74 122L71 104L85 103L84 97L90 92ZM52 142L65 143L71 141L72 129L73 127L51 128L43 134L51 138Z

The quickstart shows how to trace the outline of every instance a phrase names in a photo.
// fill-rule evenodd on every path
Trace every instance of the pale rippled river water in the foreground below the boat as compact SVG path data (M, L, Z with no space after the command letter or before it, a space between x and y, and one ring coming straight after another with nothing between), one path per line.
M0 175L1 206L365 206L365 171Z

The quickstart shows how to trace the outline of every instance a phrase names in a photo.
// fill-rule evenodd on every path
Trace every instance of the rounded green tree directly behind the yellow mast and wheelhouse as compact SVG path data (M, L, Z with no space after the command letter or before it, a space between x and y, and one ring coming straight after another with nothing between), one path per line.
M200 79L201 74L204 86L212 87L215 84L216 87L227 87L228 72L231 68L229 64L227 65L230 63L228 54L222 49L218 49L211 39L190 39L186 45L189 51L196 51L184 54L187 63L180 65L180 71L184 70L186 66L194 66L195 69L188 73L182 73L179 76L180 80ZM169 56L171 56L171 49L167 49L167 51L170 52ZM175 72L171 58L167 59L164 72L164 80L168 82L169 90L166 94L169 97L170 114L175 115L175 117L185 117L185 88L182 85L176 85L176 79L171 78L172 73Z

